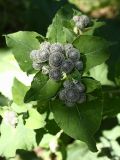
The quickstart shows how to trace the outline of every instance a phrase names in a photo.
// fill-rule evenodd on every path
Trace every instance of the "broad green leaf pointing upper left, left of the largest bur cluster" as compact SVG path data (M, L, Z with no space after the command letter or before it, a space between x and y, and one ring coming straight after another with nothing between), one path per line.
M15 59L20 65L20 68L27 73L32 73L32 61L30 52L39 48L39 41L36 37L39 34L36 32L19 31L13 34L8 34L6 37L7 46L12 49Z

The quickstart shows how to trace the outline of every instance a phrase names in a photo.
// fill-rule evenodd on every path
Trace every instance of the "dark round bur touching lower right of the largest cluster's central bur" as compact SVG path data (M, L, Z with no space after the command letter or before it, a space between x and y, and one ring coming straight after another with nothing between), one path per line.
M61 70L65 73L70 73L74 68L74 64L71 60L65 60L63 61L61 65Z

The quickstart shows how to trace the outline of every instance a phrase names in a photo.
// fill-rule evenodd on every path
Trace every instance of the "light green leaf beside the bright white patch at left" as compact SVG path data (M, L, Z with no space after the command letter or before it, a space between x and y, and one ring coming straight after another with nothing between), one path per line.
M29 87L25 86L23 83L21 83L15 78L12 87L12 96L14 103L16 103L17 105L23 105L24 96L28 89Z

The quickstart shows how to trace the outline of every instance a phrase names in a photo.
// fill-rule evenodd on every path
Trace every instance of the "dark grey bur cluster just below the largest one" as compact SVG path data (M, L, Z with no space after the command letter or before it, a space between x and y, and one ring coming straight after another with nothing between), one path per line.
M66 80L63 86L64 89L59 92L59 98L68 107L72 107L76 103L83 103L86 100L85 86L81 82Z

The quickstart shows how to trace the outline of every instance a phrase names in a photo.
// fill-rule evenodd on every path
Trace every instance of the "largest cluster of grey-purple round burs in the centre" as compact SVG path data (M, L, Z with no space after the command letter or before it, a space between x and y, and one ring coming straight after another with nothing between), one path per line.
M43 42L38 50L30 53L33 68L48 74L50 79L59 81L63 74L70 74L74 69L83 70L80 52L72 44Z

